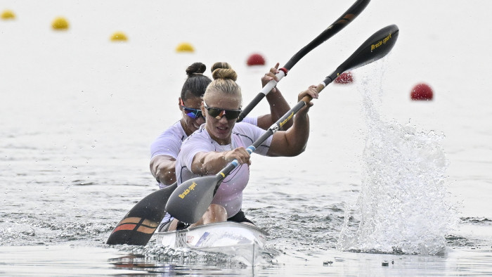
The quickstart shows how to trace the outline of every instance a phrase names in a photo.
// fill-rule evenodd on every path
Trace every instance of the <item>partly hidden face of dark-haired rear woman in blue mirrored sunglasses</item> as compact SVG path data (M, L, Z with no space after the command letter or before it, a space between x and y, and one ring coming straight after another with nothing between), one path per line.
M185 129L188 136L200 128L200 125L205 122L205 118L202 116L200 110L201 105L201 97L188 97L186 100L179 98L181 122L183 123L183 129Z

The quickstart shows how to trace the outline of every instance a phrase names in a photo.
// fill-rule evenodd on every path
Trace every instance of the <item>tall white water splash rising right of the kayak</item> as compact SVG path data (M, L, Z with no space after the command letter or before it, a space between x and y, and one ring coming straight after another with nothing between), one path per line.
M367 82L367 81L365 81ZM364 84L370 88L374 85ZM338 250L436 255L456 216L448 204L444 134L385 122L363 93L368 126L361 193L345 212ZM351 222L354 217L358 226Z

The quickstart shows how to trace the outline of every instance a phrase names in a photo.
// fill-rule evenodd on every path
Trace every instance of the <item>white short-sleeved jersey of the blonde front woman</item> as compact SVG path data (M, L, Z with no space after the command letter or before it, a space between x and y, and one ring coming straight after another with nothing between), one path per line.
M216 143L216 141L210 138L207 129L205 129L205 124L202 124L200 129L183 141L183 145L181 146L181 152L176 159L176 179L178 185L188 179L200 176L198 174L193 174L193 172L190 171L191 162L193 162L193 158L197 153L211 151L223 152L233 150L240 146L247 148L247 146L252 145L253 142L259 139L264 133L264 129L253 126L252 124L238 122L235 124L232 131L231 144L220 146L219 143ZM254 153L266 155L270 148L271 140L272 136L266 139ZM228 218L233 217L240 211L242 205L242 191L247 186L249 179L250 167L248 165L240 165L239 167L236 167L233 172L222 181L221 186L219 186L212 203L224 206Z

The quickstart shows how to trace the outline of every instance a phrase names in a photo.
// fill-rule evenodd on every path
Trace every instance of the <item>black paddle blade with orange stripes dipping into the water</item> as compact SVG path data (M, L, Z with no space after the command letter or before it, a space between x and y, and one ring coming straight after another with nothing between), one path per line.
M108 238L109 245L147 245L160 221L164 207L177 183L145 196L125 215Z

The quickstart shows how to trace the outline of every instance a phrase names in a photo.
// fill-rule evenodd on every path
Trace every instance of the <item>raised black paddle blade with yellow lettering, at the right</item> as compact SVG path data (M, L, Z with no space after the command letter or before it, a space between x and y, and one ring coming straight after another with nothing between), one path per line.
M389 25L375 32L338 67L337 73L373 63L373 61L386 56L393 49L398 34L399 29L396 25Z

